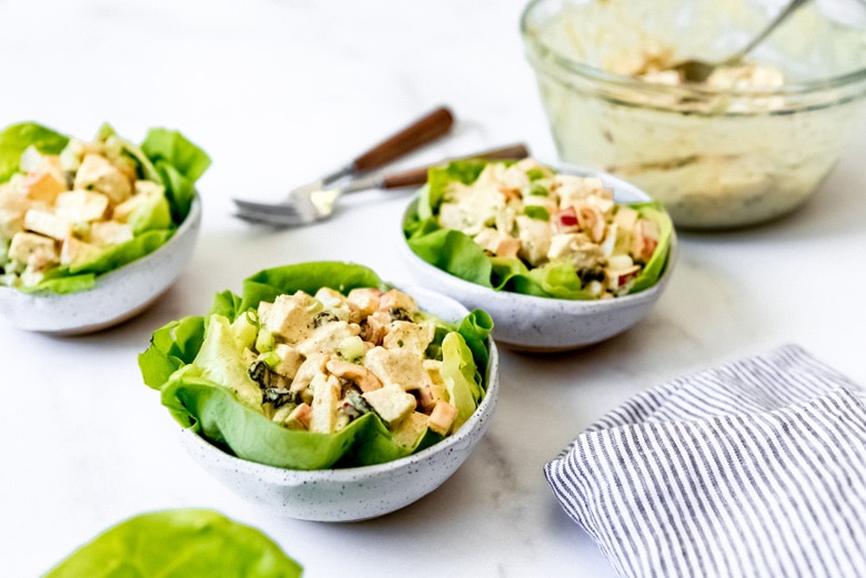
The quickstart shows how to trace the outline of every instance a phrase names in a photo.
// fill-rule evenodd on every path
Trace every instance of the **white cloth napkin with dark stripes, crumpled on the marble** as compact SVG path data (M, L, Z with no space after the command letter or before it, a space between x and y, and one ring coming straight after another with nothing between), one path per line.
M624 577L866 577L866 394L796 345L633 398L544 471Z

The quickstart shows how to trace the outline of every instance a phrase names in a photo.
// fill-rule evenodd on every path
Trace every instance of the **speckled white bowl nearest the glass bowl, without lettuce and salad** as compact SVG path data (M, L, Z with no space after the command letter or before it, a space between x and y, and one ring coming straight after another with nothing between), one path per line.
M614 190L616 202L650 201L636 186L601 171L560 166L561 172L597 176ZM414 212L417 196L404 217ZM402 221L401 221L402 224ZM451 275L415 255L402 235L399 251L410 273L425 287L450 295L469 308L486 311L493 317L493 337L501 345L524 352L555 353L602 342L641 321L662 295L676 261L676 235L664 274L652 287L610 300L573 301L493 291Z

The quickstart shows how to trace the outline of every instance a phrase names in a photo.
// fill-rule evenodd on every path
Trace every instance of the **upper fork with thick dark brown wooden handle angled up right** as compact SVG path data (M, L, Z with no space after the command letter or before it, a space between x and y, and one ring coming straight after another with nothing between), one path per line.
M280 203L269 204L235 199L236 215L246 217L251 212L266 212L269 214L275 212L282 216L286 225L301 225L325 219L333 211L333 203L329 206L316 202L318 197L321 196L321 191L328 190L344 178L359 176L380 169L391 161L444 136L451 131L453 124L454 115L451 111L446 107L439 107L335 171L295 187Z

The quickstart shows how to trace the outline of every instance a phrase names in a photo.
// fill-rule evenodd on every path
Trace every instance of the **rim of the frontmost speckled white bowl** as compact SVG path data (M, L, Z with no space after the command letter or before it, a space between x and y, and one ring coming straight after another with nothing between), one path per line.
M420 291L420 292L427 293L430 295L435 295L437 298L446 300L451 302L452 305L460 306L461 310L464 310L466 313L469 313L469 308L466 308L462 303L443 293L439 293L421 286L409 286L409 285L401 285L401 286L405 286L406 288L411 288L412 291L415 292ZM202 452L215 455L218 459L225 460L228 464L231 464L235 471L240 473L243 469L244 471L255 474L256 476L260 477L260 480L262 481L270 481L270 483L291 481L291 483L304 484L309 481L328 480L328 481L350 483L350 481L355 481L359 478L375 477L392 470L407 468L415 464L426 460L429 457L439 454L440 452L446 452L449 448L464 443L464 440L467 440L473 435L475 435L476 430L480 427L486 428L484 422L485 420L489 422L490 417L493 414L493 410L499 400L499 389L500 389L499 348L492 336L489 336L487 339L490 343L490 356L487 362L487 375L486 375L487 387L484 393L484 398L475 408L475 412L470 416L469 419L466 419L466 422L463 423L460 429L457 429L455 433L451 434L450 436L441 439L440 442L436 442L432 446L426 447L421 452L417 452L415 454L410 454L409 456L404 456L397 459L392 459L391 462L384 462L382 464L373 464L370 466L355 466L355 467L346 467L346 468L323 468L323 469L282 468L278 466L270 466L268 464L260 464L258 462L252 462L232 455L225 452L224 449L222 449L221 447L218 447L211 444L210 442L208 442L208 439L200 436L198 433L193 432L191 427L182 427L180 429L180 435L185 436L185 440L188 443L194 445L197 448L200 448Z

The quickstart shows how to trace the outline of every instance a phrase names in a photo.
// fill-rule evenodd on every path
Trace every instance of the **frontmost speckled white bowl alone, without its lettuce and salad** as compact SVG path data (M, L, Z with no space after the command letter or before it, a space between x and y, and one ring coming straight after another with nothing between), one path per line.
M452 298L417 287L401 287L421 308L443 320L469 311ZM470 456L487 430L499 398L499 353L491 339L487 392L457 432L417 454L374 466L295 470L248 462L211 445L192 430L181 443L207 471L243 498L270 511L315 521L356 521L390 514L442 485Z

